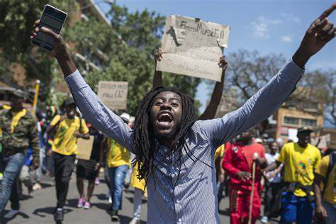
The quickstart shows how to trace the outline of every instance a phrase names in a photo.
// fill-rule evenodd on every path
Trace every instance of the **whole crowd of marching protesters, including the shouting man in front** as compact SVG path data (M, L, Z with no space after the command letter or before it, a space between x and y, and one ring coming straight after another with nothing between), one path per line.
M223 192L230 200L231 223L256 223L265 189L263 223L280 215L280 223L335 224L335 151L321 155L310 144L313 130L307 127L298 130L298 142L284 145L271 139L265 142L253 132L253 127L293 92L309 58L335 37L336 28L326 18L334 9L336 4L311 24L291 60L266 86L237 111L216 119L225 57L219 60L222 82L215 84L201 116L196 116L189 95L162 86L159 71L155 71L153 89L140 101L134 118L128 113L118 116L86 84L62 36L40 28L40 21L36 21L31 38L44 32L53 39L52 55L73 98L62 103L59 113L50 106L45 115L35 116L23 107L23 92L15 91L11 105L0 111L1 215L8 201L12 210L5 217L16 215L18 185L25 184L29 191L34 186L38 189L40 175L45 172L55 177L54 217L61 222L74 169L77 206L89 209L94 183L103 167L113 221L119 220L124 182L128 186L130 180L135 188L131 223L140 223L145 194L147 223L220 223L218 205ZM155 62L162 57L164 52L158 50ZM94 138L89 159L76 158L79 138ZM29 174L34 170L35 185ZM86 194L84 180L89 182Z

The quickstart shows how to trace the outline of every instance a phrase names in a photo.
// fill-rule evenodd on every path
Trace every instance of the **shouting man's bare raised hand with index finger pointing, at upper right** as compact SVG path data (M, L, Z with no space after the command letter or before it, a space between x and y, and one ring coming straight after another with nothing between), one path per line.
M308 59L315 55L324 47L332 38L335 38L336 28L334 24L327 19L332 11L336 9L336 3L326 9L306 31L300 47L293 55L293 61L300 67L304 67Z

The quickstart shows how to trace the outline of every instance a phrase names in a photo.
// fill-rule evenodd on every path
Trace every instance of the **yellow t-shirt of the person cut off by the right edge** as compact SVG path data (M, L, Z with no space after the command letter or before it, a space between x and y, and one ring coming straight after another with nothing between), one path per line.
M334 183L336 176L336 166L330 171L329 177L327 176L327 168L329 167L329 156L323 157L321 162L318 164L318 167L315 169L316 174L320 174L324 178L327 179L327 187L325 188L325 194L323 199L325 201L336 205L336 192L334 192ZM324 186L323 186L324 187ZM322 188L323 189L323 188Z

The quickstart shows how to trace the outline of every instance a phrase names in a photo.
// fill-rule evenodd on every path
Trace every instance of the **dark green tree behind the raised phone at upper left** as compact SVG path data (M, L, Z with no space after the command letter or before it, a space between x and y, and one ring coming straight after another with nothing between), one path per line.
M46 87L43 89L47 94L52 77L55 75L55 62L49 57L48 52L38 50L38 47L30 44L33 23L40 18L45 4L67 11L69 16L67 23L78 7L75 1L71 0L0 1L0 74L1 79L15 84L11 68L21 66L26 71L25 83L30 83L32 79L40 79ZM67 31L67 23L62 32ZM27 84L23 87L28 86Z

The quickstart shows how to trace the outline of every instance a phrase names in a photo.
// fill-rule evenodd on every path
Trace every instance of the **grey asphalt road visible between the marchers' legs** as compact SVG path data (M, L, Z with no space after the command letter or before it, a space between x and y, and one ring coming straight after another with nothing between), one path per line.
M63 223L83 224L83 223L111 223L111 216L108 215L108 203L106 201L106 192L108 191L106 184L99 184L96 186L94 196L91 198L92 207L90 210L84 208L77 208L78 192L75 182L75 177L70 181L69 194L67 196L68 203L65 206L65 220ZM24 187L24 193L27 189ZM123 210L120 211L120 223L129 223L133 214L133 191L127 191L123 194ZM55 206L55 186L53 186L52 179L43 181L43 189L35 191L33 198L25 196L21 201L21 213L16 215L12 220L4 220L0 218L1 223L9 224L40 224L40 223L54 223L52 213ZM228 217L228 198L224 198L220 203L220 220L221 223L230 223ZM6 210L10 209L7 204ZM142 223L146 221L147 203L144 201L142 206L141 219Z

